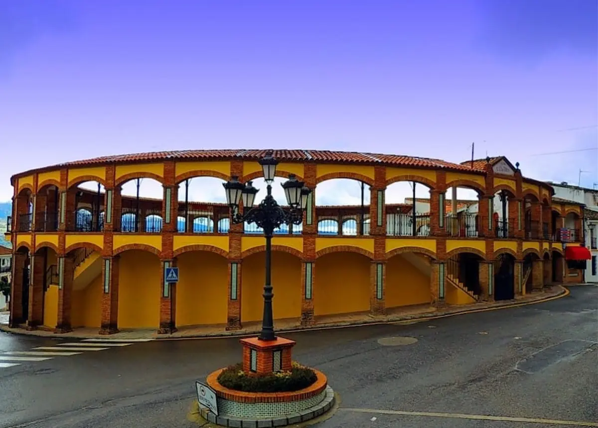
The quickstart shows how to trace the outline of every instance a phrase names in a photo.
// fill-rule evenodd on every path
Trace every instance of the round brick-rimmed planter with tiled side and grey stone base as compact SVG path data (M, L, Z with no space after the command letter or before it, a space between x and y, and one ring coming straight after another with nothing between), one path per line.
M228 389L218 382L222 370L216 370L206 378L218 403L218 415L203 410L205 418L212 423L236 427L285 426L318 417L334 405L334 391L328 386L326 375L318 370L314 370L315 383L291 392Z

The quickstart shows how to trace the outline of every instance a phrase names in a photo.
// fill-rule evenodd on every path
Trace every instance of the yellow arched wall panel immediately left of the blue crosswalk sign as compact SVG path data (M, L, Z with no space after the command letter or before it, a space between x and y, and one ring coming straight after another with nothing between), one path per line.
M139 250L121 254L118 266L119 328L158 327L161 279L160 260L156 255Z

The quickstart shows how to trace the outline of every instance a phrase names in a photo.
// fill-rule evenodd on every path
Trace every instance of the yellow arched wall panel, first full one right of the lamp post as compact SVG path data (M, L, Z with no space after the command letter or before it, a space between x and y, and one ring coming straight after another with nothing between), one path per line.
M316 261L315 315L370 310L370 260L357 253L331 253Z

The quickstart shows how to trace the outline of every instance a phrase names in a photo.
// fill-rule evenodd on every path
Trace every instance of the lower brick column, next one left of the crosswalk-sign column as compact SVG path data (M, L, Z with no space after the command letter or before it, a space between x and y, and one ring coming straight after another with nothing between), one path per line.
M99 334L118 332L118 271L120 257L102 259L102 321Z

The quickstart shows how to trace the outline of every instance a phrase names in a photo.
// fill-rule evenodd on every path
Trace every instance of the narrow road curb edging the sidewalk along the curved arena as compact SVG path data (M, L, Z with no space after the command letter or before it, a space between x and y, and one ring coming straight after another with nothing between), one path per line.
M583 285L583 284L580 284ZM492 303L489 304L487 307L481 308L463 308L463 309L454 309L450 311L446 311L444 313L436 313L434 315L429 315L426 313L417 314L417 315L407 315L407 316L396 316L396 317L384 317L384 319L379 319L376 321L370 321L367 319L354 321L354 322L339 322L331 325L318 325L314 327L291 327L291 328L280 328L277 329L279 332L285 333L294 333L294 332L301 332L301 331L320 331L320 330L337 330L340 328L349 328L349 327L367 327L368 325L383 325L383 324L402 324L408 322L420 322L420 321L429 321L431 319L440 319L440 318L447 318L449 316L455 315L464 315L466 313L477 313L477 312L488 312L490 310L498 310L498 309L509 309L511 307L519 307L519 306L529 306L530 304L537 304L537 303L544 303L546 301L556 300L557 298L566 297L570 294L569 290L566 287L570 287L569 285L563 286L558 285L557 287L560 288L559 292L554 295L550 295L547 297L539 297L535 300L530 301L521 301L521 302L509 302L509 303ZM491 305L491 306L490 306ZM55 338L97 338L97 335L61 335L61 334L39 334L38 331L32 330L14 330L8 325L0 325L0 331L5 331L12 334L22 334L22 335L35 335L38 337L55 337ZM251 337L257 334L259 330L255 331L245 331L245 332L226 332L226 333L214 333L214 334L194 334L188 335L184 337L151 337L154 341L169 341L169 340L201 340L201 339L218 339L218 338L243 338L243 337ZM135 337L126 337L123 339L134 339ZM147 337L145 337L147 338ZM119 337L120 339L120 337ZM110 337L106 337L106 341L109 341Z

